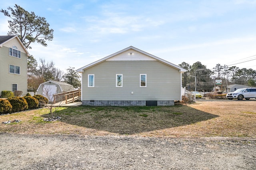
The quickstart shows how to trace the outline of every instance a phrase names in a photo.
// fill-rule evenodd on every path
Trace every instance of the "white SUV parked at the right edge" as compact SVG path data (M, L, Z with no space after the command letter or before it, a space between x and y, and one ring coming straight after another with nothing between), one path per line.
M252 87L252 88L237 89L232 93L228 93L226 97L230 100L232 99L249 100L250 98L256 99L256 88Z

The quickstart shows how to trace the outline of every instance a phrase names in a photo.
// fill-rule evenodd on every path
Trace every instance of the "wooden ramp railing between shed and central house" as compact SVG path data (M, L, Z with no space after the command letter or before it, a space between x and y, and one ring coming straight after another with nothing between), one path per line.
M81 89L67 91L64 93L58 93L53 96L54 96L54 103L57 103L60 101L66 101L66 104L67 104L70 101L74 102L76 99L78 99L78 96L81 96Z

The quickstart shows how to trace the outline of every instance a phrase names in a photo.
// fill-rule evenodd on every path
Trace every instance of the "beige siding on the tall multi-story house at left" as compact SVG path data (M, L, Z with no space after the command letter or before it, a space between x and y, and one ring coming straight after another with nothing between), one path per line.
M12 91L12 84L18 84L18 91L22 91L22 95L27 93L27 55L21 45L13 39L5 45L13 45L21 51L21 58L10 56L9 47L0 47L0 95L3 90ZM9 65L20 67L20 74L9 73Z

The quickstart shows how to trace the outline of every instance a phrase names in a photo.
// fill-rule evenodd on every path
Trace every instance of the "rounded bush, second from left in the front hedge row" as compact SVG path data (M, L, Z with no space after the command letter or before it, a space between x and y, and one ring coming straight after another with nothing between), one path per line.
M24 97L9 97L8 101L12 105L12 112L19 112L28 109L28 103Z

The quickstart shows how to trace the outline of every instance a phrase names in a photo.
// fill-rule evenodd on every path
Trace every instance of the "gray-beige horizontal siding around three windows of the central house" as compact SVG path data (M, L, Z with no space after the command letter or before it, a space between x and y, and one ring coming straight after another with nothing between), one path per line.
M94 74L94 87L88 87L88 74ZM123 87L116 87L116 74L123 75ZM140 74L147 75L147 87L140 87ZM104 61L82 73L83 101L175 101L180 97L181 73L160 61Z

